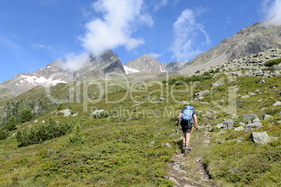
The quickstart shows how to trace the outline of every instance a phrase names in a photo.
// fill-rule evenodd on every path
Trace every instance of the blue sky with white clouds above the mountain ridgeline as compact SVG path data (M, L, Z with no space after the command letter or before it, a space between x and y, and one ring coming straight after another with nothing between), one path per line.
M151 54L190 61L250 24L275 16L281 0L1 0L0 83L55 60L77 69L111 49L123 63Z

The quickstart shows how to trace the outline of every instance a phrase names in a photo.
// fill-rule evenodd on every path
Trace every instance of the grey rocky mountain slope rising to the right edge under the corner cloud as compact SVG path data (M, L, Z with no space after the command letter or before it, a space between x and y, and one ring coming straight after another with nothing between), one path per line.
M238 31L234 36L222 40L219 45L195 57L182 66L180 73L209 68L280 46L281 26L258 22Z

